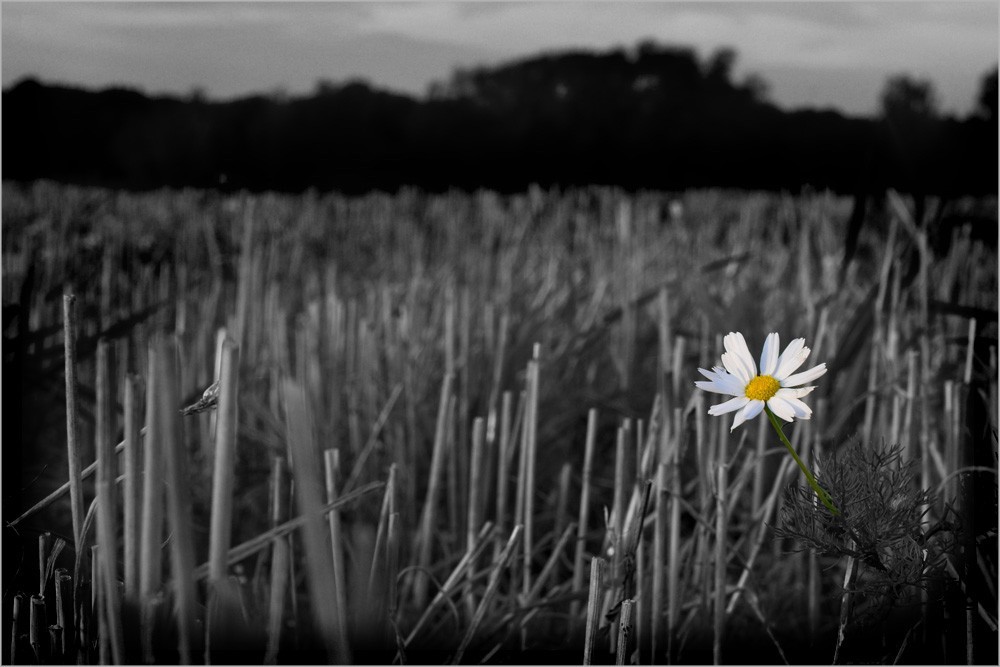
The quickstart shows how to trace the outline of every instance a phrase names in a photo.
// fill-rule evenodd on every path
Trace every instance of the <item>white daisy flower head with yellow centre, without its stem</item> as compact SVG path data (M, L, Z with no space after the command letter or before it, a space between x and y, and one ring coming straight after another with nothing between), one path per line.
M765 406L787 422L812 416L812 410L800 399L816 387L802 385L826 373L826 364L813 366L801 373L795 372L809 356L805 338L796 338L779 355L778 334L768 334L760 355L759 374L743 334L730 332L723 339L723 344L726 347L722 355L723 368L716 366L710 371L699 368L698 372L708 381L698 381L695 385L705 391L734 398L713 405L708 414L724 415L735 411L736 418L730 430L759 415Z

